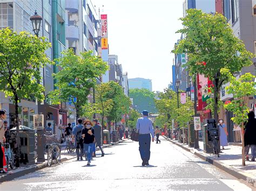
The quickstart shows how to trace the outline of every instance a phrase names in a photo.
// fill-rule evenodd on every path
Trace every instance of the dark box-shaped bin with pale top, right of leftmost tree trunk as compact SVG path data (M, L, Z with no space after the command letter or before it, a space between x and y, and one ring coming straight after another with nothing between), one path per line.
M10 130L16 134L16 128ZM20 162L24 165L35 165L35 130L19 126Z

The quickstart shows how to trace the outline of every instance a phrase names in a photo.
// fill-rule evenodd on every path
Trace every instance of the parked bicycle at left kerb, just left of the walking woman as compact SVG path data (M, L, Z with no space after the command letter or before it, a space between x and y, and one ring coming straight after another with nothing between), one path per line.
M57 139L55 135L44 135L46 138L45 151L47 151L47 163L48 166L52 166L53 160L56 164L60 162L61 159L61 145L60 140Z

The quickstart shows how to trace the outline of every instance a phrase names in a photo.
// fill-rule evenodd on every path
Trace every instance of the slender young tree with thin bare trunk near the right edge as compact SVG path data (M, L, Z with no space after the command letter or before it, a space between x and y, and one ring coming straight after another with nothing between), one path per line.
M247 105L248 97L256 94L256 89L254 88L256 86L254 82L256 76L246 73L237 80L230 70L226 68L221 69L221 74L228 77L230 85L225 89L227 90L227 94L233 94L234 97L234 100L224 105L224 107L233 112L234 117L231 118L232 121L242 126L242 165L245 166L244 123L248 118L247 114L250 110Z

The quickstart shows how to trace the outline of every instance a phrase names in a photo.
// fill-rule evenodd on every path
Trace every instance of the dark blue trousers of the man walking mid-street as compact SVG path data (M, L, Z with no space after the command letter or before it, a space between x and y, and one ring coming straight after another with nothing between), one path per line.
M139 152L143 161L150 160L150 134L139 135Z

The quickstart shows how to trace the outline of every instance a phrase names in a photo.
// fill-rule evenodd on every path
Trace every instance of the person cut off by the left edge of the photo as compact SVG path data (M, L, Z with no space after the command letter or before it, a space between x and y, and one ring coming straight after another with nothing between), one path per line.
M5 137L4 137L4 119L6 118L5 110L0 110L0 172L4 172L4 152L2 150L2 144L5 143ZM3 145L4 146L4 145Z

